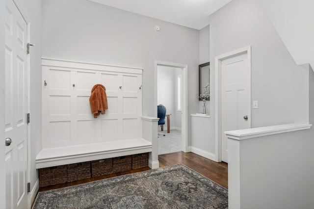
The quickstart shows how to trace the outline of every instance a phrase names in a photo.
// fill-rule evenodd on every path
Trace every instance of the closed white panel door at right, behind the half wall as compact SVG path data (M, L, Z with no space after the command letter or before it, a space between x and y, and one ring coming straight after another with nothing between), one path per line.
M251 127L250 75L247 52L221 60L221 160L224 162L228 162L224 131Z

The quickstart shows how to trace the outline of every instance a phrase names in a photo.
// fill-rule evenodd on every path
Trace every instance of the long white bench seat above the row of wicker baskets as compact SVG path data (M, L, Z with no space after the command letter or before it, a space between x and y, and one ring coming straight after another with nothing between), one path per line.
M149 152L152 143L143 138L42 149L36 157L36 169Z

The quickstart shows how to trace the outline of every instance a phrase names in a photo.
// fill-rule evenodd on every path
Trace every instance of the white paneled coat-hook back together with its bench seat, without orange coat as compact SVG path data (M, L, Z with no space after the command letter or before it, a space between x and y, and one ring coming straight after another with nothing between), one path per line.
M42 150L36 167L152 151L142 138L142 69L42 59ZM93 117L95 84L108 109ZM143 151L143 152L142 152Z

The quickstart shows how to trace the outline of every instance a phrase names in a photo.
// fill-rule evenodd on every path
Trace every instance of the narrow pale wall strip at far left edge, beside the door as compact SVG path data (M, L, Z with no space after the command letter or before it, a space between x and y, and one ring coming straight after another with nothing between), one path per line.
M5 8L5 0L0 0L0 139L2 143L0 143L0 208L5 208L5 146L4 146L4 138L5 138L5 65L4 65L4 43L5 43L5 30L4 30L4 10Z

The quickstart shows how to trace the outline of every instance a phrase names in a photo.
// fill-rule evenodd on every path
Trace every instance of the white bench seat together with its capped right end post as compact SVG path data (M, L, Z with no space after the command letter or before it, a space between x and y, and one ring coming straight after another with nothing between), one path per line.
M158 168L158 118L142 117L143 138L42 149L36 157L36 168L47 168L110 157L141 153L149 155L149 167ZM147 140L146 140L147 139Z

